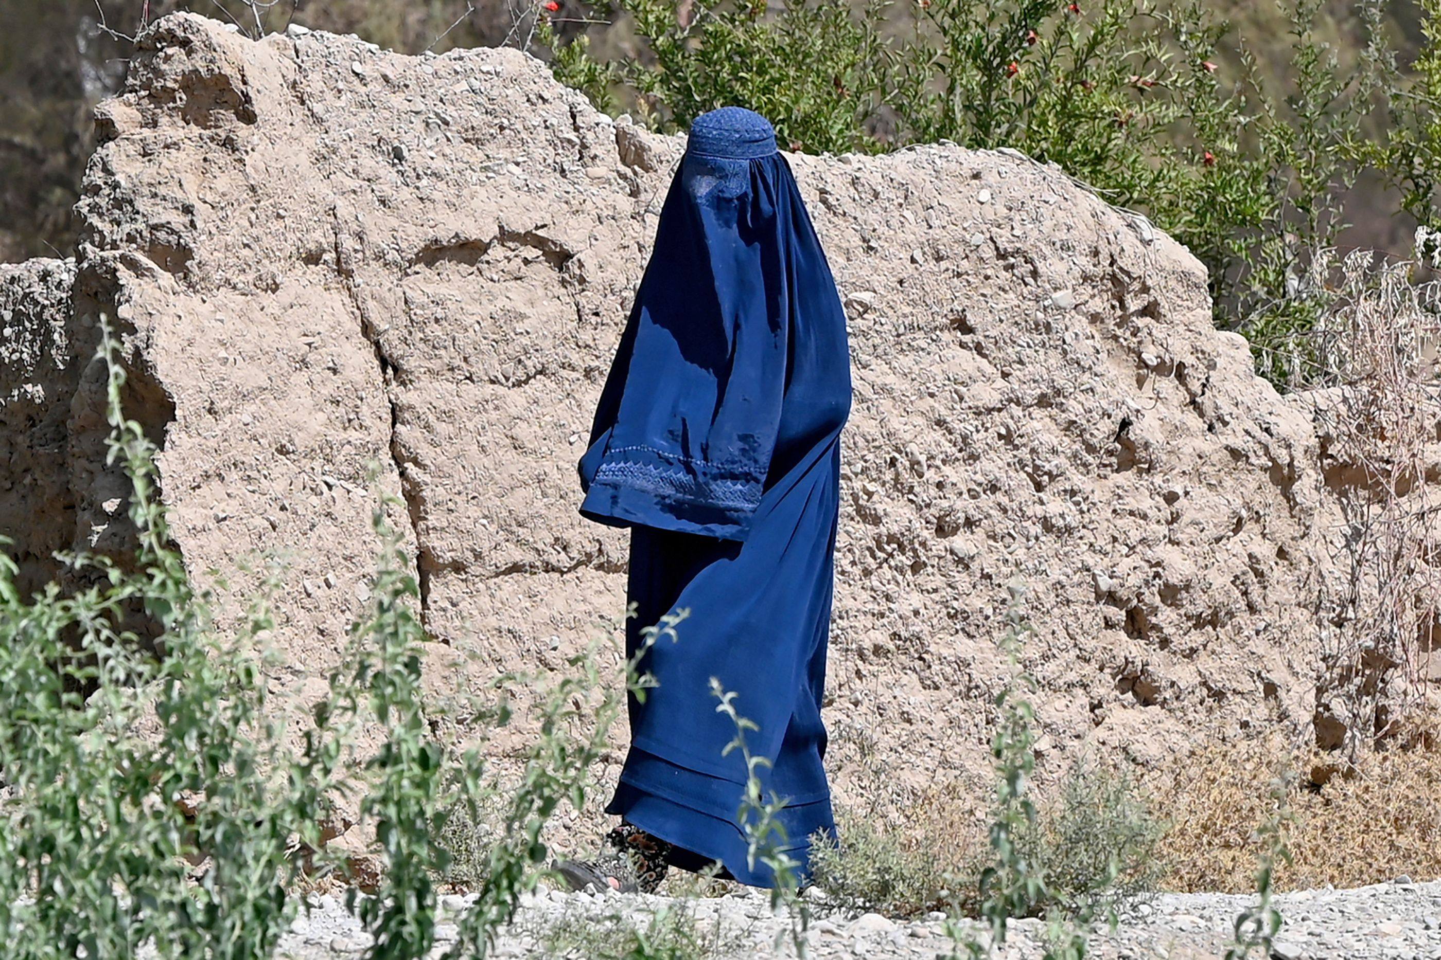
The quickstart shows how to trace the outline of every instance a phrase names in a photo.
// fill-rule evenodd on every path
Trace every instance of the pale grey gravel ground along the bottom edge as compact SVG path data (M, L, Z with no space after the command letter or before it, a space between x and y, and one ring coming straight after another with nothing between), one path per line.
M295 921L282 943L281 956L330 960L365 950L367 940L339 898L326 895L311 902L310 914ZM455 895L442 900L447 923L440 927L434 956L441 956L454 943L454 920L467 902L467 898ZM1160 894L1114 934L1098 934L1092 940L1092 956L1107 960L1219 960L1231 943L1233 918L1252 902L1252 897L1232 894ZM1277 905L1285 925L1277 938L1274 960L1441 960L1441 881L1414 884L1399 878L1357 889L1301 891L1280 895ZM784 934L788 920L772 917L768 897L757 891L689 901L542 891L526 900L493 956L594 956L595 947L562 953L546 944L553 943L556 931L585 931L599 937L623 924L644 930L654 913L663 908L690 911L695 928L712 947L712 956L787 956L772 944L777 934ZM817 959L932 960L950 950L940 920L940 914L921 921L892 921L879 914L855 917L827 911L824 902L816 902L807 933L810 954ZM1016 923L1006 950L997 951L997 956L1016 960L1040 957L1040 940L1039 921Z

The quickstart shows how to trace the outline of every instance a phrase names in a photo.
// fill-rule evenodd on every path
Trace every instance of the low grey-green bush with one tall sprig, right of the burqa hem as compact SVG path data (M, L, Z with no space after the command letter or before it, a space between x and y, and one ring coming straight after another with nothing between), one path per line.
M875 910L914 917L951 911L957 951L984 956L963 917L984 921L990 941L1006 938L1017 917L1046 917L1048 957L1084 956L1089 931L1114 921L1164 872L1159 856L1163 825L1130 777L1105 767L1075 764L1059 789L1036 802L1035 717L1027 701L1035 681L1020 666L1030 632L1022 613L1025 590L1012 587L1006 632L999 640L1012 672L996 698L991 743L996 780L990 823L983 842L951 859L932 842L954 833L955 823L896 823L842 818L840 843L817 838L816 882L844 910Z

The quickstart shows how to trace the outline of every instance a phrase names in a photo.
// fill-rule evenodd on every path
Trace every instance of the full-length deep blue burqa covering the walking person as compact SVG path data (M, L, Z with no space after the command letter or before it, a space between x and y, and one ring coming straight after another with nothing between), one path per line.
M767 797L785 800L781 849L808 872L834 836L820 707L830 630L840 430L850 412L846 317L790 164L764 117L696 118L656 246L581 458L582 515L630 527L627 646L689 610L641 669L631 747L607 806L769 887L746 862L746 780L710 678L749 731Z

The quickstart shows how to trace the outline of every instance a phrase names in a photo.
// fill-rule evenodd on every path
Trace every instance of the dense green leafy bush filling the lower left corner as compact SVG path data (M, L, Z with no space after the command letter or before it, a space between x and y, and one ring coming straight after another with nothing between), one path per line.
M326 737L287 759L249 646L218 639L156 502L151 449L110 363L110 456L133 485L134 569L22 597L0 557L0 936L10 956L269 956L295 905L294 841L320 845L336 783ZM141 643L140 626L154 636Z

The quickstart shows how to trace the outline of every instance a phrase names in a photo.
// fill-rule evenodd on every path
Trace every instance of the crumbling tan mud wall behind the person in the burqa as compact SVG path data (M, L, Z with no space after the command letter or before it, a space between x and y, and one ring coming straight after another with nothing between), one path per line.
M623 534L578 517L574 465L683 140L517 50L256 43L187 14L98 122L72 312L72 268L0 275L24 330L0 356L3 530L43 557L104 527L99 394L63 335L104 311L190 569L239 603L242 563L290 563L294 688L366 597L370 465L438 648L562 669L621 612ZM1019 154L790 158L855 357L842 790L867 750L899 787L984 769L1017 576L1049 757L1308 735L1337 512L1308 417L1212 328L1200 263Z

